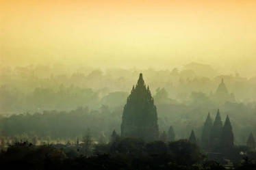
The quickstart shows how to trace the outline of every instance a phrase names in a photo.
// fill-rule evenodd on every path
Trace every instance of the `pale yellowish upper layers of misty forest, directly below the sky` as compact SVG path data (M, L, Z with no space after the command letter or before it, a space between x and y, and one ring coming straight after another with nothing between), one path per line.
M169 100L162 101L165 103L186 103L194 97L205 98L207 101L210 94L215 93L222 78L229 93L233 93L237 101L255 103L256 100L255 78L247 79L239 74L220 74L218 70L214 71L207 65L195 64L181 70L104 71L60 65L15 68L0 66L0 113L34 112L38 109L66 110L85 105L97 109L97 104L101 103L104 96L114 91L128 93L140 72L146 77L153 96L159 87L168 91ZM194 91L201 94L193 94Z

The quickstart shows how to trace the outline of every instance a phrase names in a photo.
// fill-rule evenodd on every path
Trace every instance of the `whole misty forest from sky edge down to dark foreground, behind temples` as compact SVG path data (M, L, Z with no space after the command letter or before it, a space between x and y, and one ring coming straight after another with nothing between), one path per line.
M236 144L245 145L255 134L256 78L222 74L201 63L180 70L1 66L1 134L74 141L89 128L95 140L102 135L109 140L113 130L120 133L123 107L139 72L151 87L161 132L173 126L177 139L188 139L194 129L200 139L207 114L214 117L220 109L223 119L231 119ZM214 98L221 79L234 99Z

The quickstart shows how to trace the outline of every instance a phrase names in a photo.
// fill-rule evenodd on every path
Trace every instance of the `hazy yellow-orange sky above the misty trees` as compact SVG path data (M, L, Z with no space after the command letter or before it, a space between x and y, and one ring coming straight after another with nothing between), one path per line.
M256 1L0 3L0 62L172 68L190 61L256 74Z

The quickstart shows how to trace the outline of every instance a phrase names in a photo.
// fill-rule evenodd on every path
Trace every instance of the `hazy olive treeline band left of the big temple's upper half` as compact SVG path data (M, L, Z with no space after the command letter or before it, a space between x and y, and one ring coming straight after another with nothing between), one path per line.
M101 96L101 97L100 97ZM115 91L102 96L101 91L81 87L36 87L24 94L7 86L0 87L0 108L2 114L34 113L44 110L71 111L77 107L99 109L101 104L107 104L112 109L125 103L127 93Z

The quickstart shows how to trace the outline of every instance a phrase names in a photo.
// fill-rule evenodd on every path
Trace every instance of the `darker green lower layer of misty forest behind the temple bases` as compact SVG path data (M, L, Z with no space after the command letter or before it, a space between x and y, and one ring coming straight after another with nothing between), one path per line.
M105 103L116 96L114 93L105 98ZM159 97L159 96L158 96ZM113 99L114 98L114 99ZM120 102L120 101L116 101ZM68 105L68 103L66 103ZM81 137L88 128L92 135L98 139L101 134L109 137L112 130L120 130L123 105L111 109L107 105L99 105L99 109L79 107L71 111L40 111L37 113L22 113L0 117L0 132L2 137L42 137L51 139L75 139ZM188 139L193 129L196 139L201 139L203 124L207 113L216 114L214 105L194 104L157 104L157 115L160 132L168 132L170 126L174 128L176 139ZM246 145L248 135L255 134L255 107L245 104L227 103L220 107L222 117L231 118L235 145ZM246 116L245 116L246 115Z

